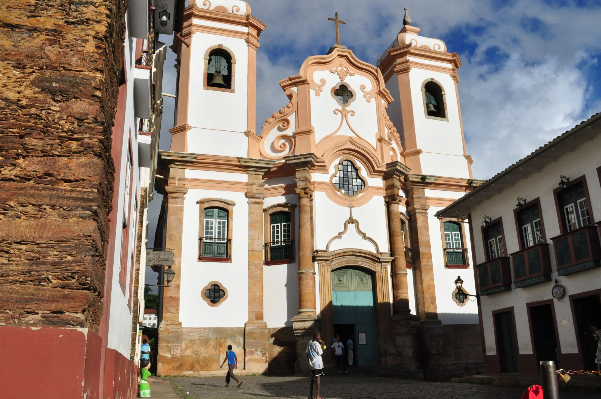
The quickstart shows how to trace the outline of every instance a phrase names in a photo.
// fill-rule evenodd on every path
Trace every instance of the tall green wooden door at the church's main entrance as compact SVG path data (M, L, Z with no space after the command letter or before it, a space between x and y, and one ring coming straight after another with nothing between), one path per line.
M377 365L376 308L371 275L355 269L332 272L332 315L334 324L355 324L357 365Z

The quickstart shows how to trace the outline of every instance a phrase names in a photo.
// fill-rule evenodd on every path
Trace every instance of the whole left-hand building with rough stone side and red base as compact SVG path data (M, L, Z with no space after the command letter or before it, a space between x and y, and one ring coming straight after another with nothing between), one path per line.
M165 27L148 0L17 3L0 26L2 397L134 398Z

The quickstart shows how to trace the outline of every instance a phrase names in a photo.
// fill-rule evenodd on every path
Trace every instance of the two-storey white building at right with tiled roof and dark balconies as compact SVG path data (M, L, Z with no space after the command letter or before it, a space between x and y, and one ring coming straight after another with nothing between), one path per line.
M469 220L486 373L597 370L600 150L596 114L436 214Z

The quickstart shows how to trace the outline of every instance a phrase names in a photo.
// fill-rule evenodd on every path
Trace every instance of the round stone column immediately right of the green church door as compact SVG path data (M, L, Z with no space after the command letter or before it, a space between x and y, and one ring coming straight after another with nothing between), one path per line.
M403 230L399 204L401 201L400 179L409 172L409 168L398 161L386 163L384 175L385 200L388 205L388 227L390 229L392 261L392 296L394 315L392 329L397 364L409 369L417 364L417 330L419 318L410 314L409 290L407 288L407 264L403 244Z

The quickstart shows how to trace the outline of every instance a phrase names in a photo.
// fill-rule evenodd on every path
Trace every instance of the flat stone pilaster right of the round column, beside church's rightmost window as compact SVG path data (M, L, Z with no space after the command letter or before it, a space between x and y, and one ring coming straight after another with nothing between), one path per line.
M436 290L434 286L434 265L432 248L430 246L430 229L426 187L431 177L410 174L407 178L409 198L407 213L411 224L413 242L413 257L415 262L415 289L417 296L418 315L421 323L421 342L424 346L428 367L424 372L433 373L434 368L444 360L444 332L442 323L438 320L436 308Z

